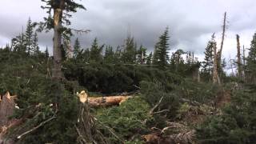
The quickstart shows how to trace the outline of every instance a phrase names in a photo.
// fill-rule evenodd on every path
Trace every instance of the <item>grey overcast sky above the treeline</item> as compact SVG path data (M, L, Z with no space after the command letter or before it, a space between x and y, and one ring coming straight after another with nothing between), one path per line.
M227 12L229 28L223 55L236 55L235 34L242 45L250 46L256 30L255 0L82 0L87 10L78 10L71 27L89 29L90 34L77 35L83 47L97 37L100 43L122 45L127 34L138 45L153 50L158 36L170 28L170 49L194 51L202 58L210 35L221 38L223 14ZM27 19L39 22L46 16L40 0L0 0L0 46L22 32ZM52 47L52 34L39 34L42 50Z

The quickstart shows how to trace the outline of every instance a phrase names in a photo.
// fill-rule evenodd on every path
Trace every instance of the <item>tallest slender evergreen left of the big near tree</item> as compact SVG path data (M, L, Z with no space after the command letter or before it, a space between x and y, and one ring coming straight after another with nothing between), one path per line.
M26 51L27 51L27 54L29 55L31 54L32 41L34 40L33 28L34 28L33 23L29 18L26 24L26 33L25 33Z

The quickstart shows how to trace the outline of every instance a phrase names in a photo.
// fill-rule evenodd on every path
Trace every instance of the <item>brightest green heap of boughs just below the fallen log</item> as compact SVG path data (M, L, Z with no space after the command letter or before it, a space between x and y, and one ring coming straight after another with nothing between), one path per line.
M131 98L120 106L97 110L96 118L99 122L112 128L122 140L135 138L133 142L141 142L140 135L148 131L144 121L152 118L149 111L150 106L141 98ZM110 143L121 143L110 133L109 129L106 129L105 126L100 127L102 134Z

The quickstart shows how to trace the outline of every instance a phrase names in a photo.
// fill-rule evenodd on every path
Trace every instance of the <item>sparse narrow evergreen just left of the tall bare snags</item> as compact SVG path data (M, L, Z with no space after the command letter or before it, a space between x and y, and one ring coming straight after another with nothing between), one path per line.
M208 42L206 46L206 51L204 52L205 58L202 62L202 71L204 74L210 75L213 73L214 66L214 46L216 46L216 42L214 40L214 35L211 40Z

